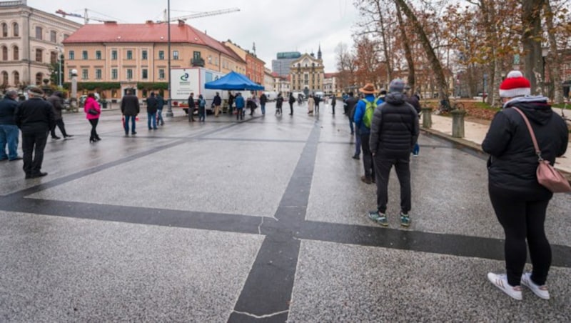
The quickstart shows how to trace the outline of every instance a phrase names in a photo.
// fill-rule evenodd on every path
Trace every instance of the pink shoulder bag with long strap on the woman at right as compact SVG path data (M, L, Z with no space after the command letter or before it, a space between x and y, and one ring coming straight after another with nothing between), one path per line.
M535 139L535 133L531 127L530 121L527 119L527 116L523 114L520 109L517 109L515 106L512 108L521 114L525 124L527 125L527 130L530 131L531 139L533 141L533 147L535 148L535 154L537 154L537 182L539 182L542 186L546 189L549 189L553 193L565 193L571 192L571 185L569 181L560 173L557 172L555 167L552 167L548 160L544 160L541 157L541 150L539 145L537 145L537 139Z

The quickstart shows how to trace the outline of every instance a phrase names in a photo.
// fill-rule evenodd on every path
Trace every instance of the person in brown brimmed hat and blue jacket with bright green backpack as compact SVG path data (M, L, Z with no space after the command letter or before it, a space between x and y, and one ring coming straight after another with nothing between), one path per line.
M370 124L373 120L373 112L379 102L375 99L375 86L373 84L367 83L359 91L365 94L365 97L359 100L355 106L353 121L355 121L357 129L359 129L361 150L363 150L365 174L361 177L361 181L371 184L375 181L375 169L373 169L373 155L369 149Z

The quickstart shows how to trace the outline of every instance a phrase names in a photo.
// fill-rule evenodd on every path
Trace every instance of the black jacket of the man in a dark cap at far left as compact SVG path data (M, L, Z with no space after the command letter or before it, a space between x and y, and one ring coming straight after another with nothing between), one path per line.
M56 124L54 108L48 101L36 97L18 105L14 120L23 134L47 133Z

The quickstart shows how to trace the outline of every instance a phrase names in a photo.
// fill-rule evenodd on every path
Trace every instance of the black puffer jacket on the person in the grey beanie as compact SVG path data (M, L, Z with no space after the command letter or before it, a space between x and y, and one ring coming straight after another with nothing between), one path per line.
M418 139L418 114L403 93L393 92L377 106L370 124L370 151L390 159L408 159Z

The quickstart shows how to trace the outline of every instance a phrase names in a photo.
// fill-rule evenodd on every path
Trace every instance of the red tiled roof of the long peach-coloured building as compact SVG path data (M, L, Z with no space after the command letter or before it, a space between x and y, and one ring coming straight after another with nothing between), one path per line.
M86 43L167 43L168 25L146 24L85 24L71 34L64 44ZM221 44L220 41L198 31L188 24L171 24L171 43L187 43L208 46L211 49L242 61L240 56Z

